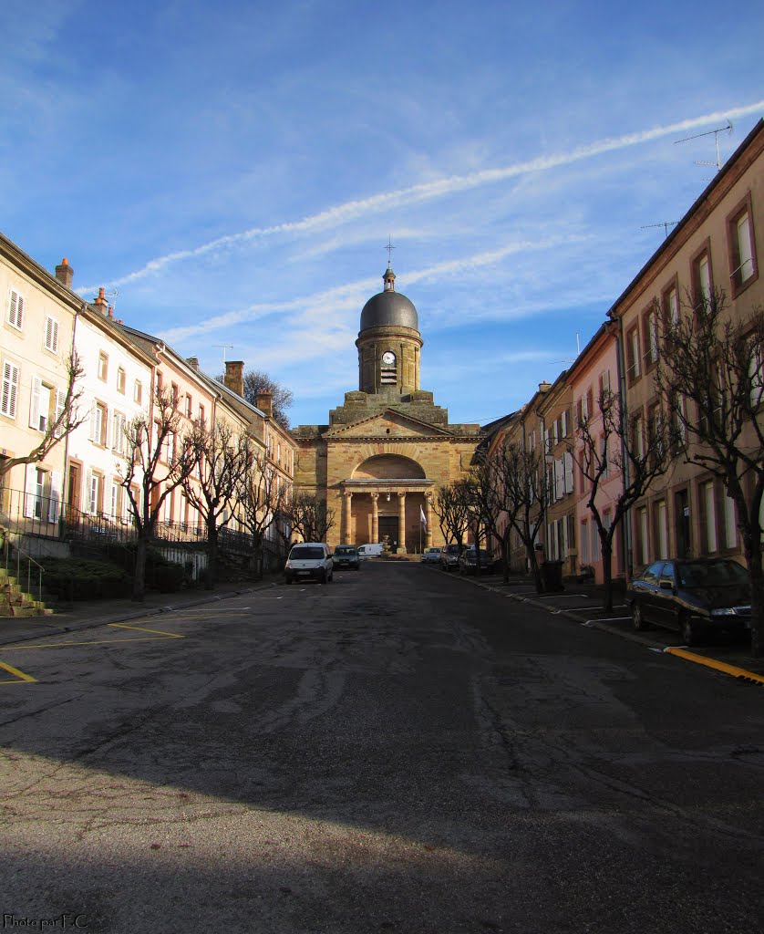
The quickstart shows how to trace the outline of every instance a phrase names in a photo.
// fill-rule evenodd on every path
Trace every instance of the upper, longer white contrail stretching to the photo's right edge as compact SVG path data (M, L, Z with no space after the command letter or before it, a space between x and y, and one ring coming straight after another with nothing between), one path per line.
M586 146L572 149L569 152L561 152L549 156L538 156L527 162L505 165L495 169L484 169L480 172L473 172L468 175L436 178L432 181L421 182L417 185L410 185L407 188L394 191L380 191L377 194L370 195L368 198L359 198L353 201L347 201L341 205L334 205L324 211L319 211L318 214L311 214L300 220L285 221L284 223L273 224L269 227L252 227L241 233L229 233L226 236L217 237L215 240L211 240L209 243L202 244L199 247L180 249L173 253L167 253L165 256L150 260L145 266L135 270L133 273L111 280L109 284L112 286L119 286L127 282L134 282L136 279L149 276L151 273L155 273L171 263L194 259L199 256L204 256L205 253L212 252L213 250L230 247L233 246L233 244L245 243L248 240L271 237L279 233L307 233L326 227L332 227L332 225L344 223L347 220L361 217L372 211L394 207L402 203L410 204L414 201L427 201L432 198L441 198L456 191L466 191L468 189L478 188L482 185L496 184L507 178L527 175L533 172L544 172L556 168L559 165L569 165L571 163L580 162L583 159L590 159L604 152L612 152L615 149L626 149L630 146L638 146L654 139L660 139L663 136L684 133L687 130L693 130L708 123L744 117L762 110L764 110L764 101L757 101L755 104L732 107L729 110L718 110L714 113L704 114L701 117L691 117L686 120L679 120L675 123L653 127L650 130L641 130L636 133L601 139L594 143L589 143ZM92 291L94 288L96 287L78 289L78 292L86 293Z

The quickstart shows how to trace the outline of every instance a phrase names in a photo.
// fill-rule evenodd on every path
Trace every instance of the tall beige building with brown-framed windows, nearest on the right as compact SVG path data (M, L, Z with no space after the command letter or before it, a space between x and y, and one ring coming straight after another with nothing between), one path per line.
M642 420L644 444L656 419L676 417L661 411L654 379L661 317L697 314L719 289L732 320L744 320L764 306L758 272L762 232L764 122L759 121L608 312L619 330L628 405ZM676 404L686 402L680 398ZM674 556L740 557L736 522L722 481L677 458L632 509L634 567Z

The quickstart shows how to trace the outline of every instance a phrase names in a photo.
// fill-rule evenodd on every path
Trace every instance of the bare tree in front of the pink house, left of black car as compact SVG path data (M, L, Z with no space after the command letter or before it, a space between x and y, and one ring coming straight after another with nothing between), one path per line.
M587 508L597 526L602 555L602 607L613 610L613 543L631 506L642 499L654 480L672 465L672 425L658 413L647 425L621 405L617 392L603 387L597 410L582 415L576 425L578 446L568 450L588 481ZM614 498L607 500L609 519L605 521L598 493L613 474L621 482Z

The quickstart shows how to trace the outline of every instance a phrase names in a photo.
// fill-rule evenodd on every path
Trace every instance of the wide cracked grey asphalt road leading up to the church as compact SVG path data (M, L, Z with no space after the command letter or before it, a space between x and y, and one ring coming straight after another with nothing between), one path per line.
M403 562L29 646L4 928L764 929L760 687Z

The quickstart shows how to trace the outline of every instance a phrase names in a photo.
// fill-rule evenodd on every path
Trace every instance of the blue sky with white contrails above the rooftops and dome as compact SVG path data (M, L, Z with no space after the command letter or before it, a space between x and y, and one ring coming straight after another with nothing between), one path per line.
M417 305L422 389L486 423L554 380L764 117L764 5L4 0L0 229L293 425Z

